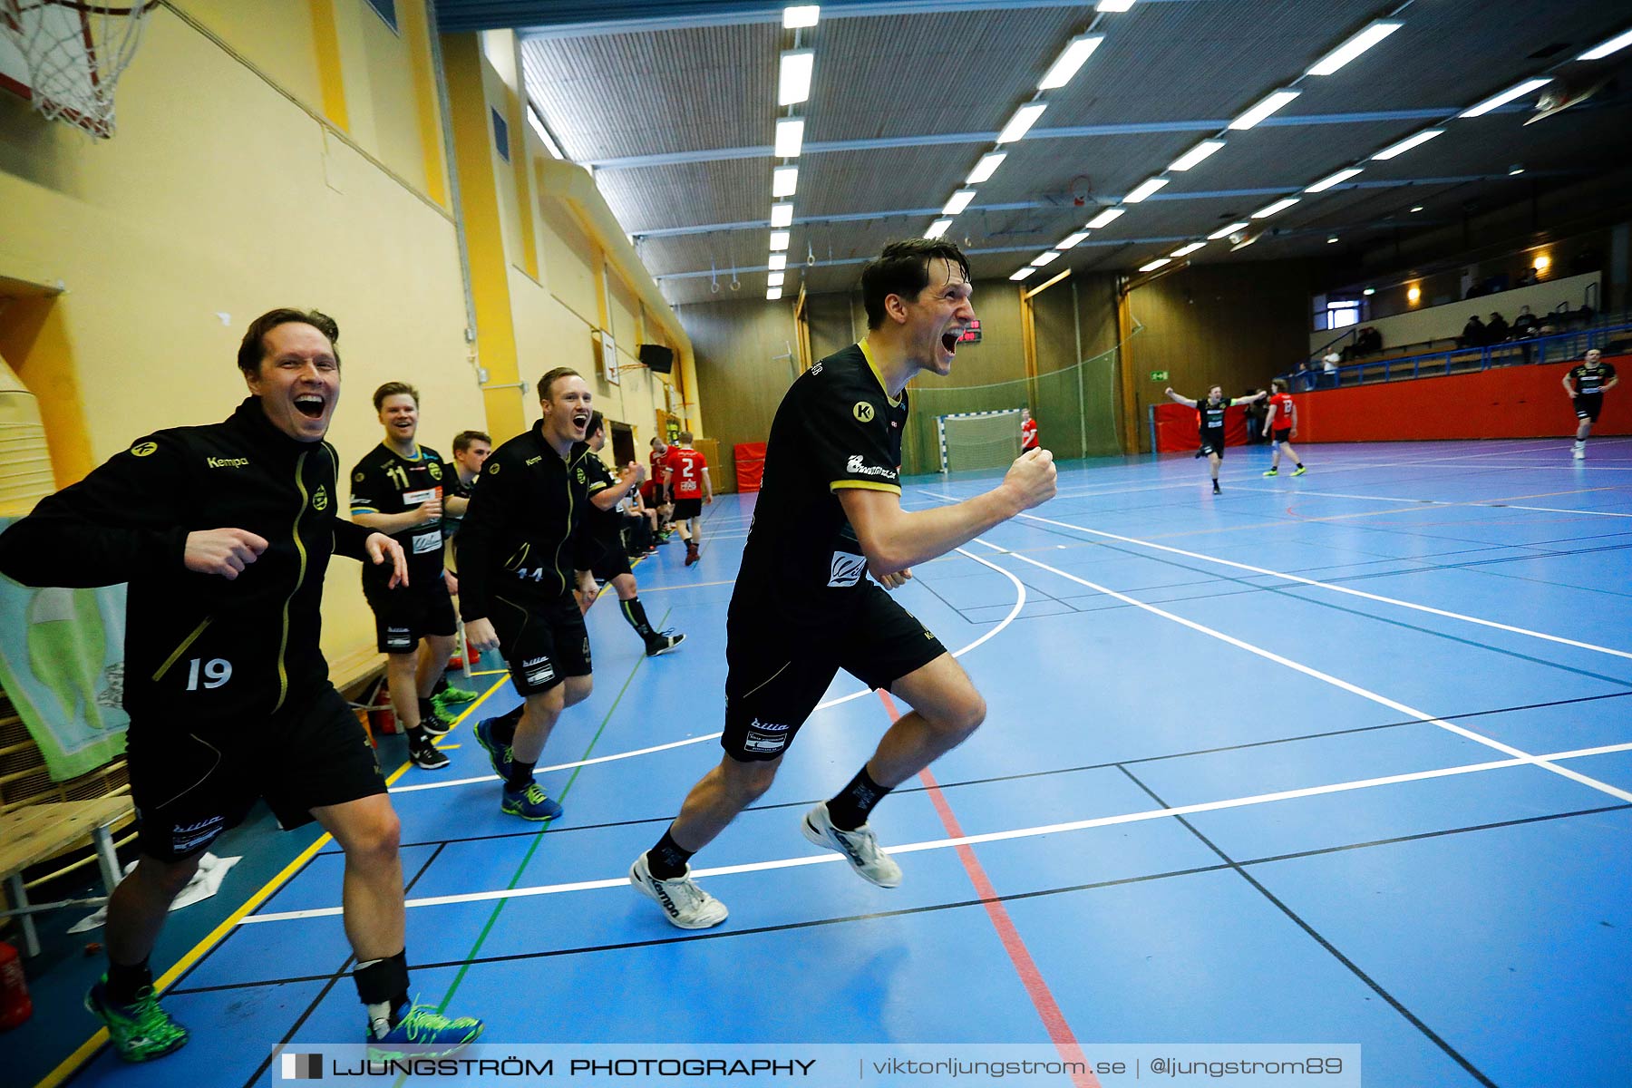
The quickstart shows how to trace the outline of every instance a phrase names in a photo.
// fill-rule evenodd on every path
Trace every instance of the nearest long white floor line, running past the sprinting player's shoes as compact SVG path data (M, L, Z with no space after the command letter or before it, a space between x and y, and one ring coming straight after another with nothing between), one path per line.
M1180 804L1175 807L1160 809L1144 809L1139 812L1123 812L1120 816L1097 816L1085 820L1069 820L1064 824L1044 824L1041 827L1017 827L1013 830L1004 832L986 832L982 835L960 835L958 838L934 838L927 842L912 842L902 845L889 847L891 855L902 853L920 853L925 850L947 850L955 847L974 847L989 842L1010 842L1015 838L1035 838L1038 835L1058 835L1062 832L1089 830L1093 827L1113 827L1118 824L1139 824L1144 820L1165 819L1170 816L1195 816L1198 812L1217 812L1222 809L1240 809L1253 804L1271 804L1276 801L1294 801L1299 798L1315 798L1332 793L1346 793L1353 789L1373 789L1377 786L1394 786L1408 781L1426 781L1431 778L1451 778L1454 775L1474 775L1487 770L1501 770L1506 767L1523 767L1532 760L1567 760L1567 759L1583 759L1588 755L1606 755L1611 752L1627 752L1632 750L1632 742L1627 744L1604 744L1593 749L1573 749L1568 752L1549 752L1547 755L1534 755L1524 759L1505 759L1490 760L1485 763L1464 763L1461 767L1441 767L1438 770L1418 770L1404 775L1386 775L1382 778L1359 778L1355 781L1338 781L1325 786L1306 786L1302 789L1279 789L1276 793L1258 793L1247 798L1227 798L1224 801L1203 801L1198 804ZM821 853L821 855L805 855L798 858L778 858L774 861L751 861L747 865L723 865L712 869L692 869L694 878L705 876L734 876L738 873L765 873L770 869L790 869L805 865L827 865L832 861L842 861L837 853ZM599 891L604 887L623 887L628 884L628 876L614 876L599 881L574 881L570 884L539 884L535 887L504 887L486 892L463 892L459 896L429 896L424 899L410 899L406 907L446 907L450 904L468 904L468 902L485 902L493 899L526 899L532 896L558 896L563 892L588 892ZM277 913L256 913L246 915L238 920L238 925L251 925L259 922L295 922L300 918L333 918L341 913L341 907L315 907L310 910L282 910Z

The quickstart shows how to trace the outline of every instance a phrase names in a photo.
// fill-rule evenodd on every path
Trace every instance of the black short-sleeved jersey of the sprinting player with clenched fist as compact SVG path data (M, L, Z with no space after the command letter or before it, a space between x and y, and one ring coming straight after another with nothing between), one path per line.
M793 382L770 424L733 610L770 608L821 621L854 607L867 558L837 491L901 493L906 421L906 391L889 400L860 344L827 356Z

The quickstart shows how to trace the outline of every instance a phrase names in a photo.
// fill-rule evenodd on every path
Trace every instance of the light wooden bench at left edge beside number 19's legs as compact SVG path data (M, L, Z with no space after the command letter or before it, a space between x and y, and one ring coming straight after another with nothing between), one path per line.
M0 816L0 876L11 892L11 907L0 910L0 918L23 920L23 946L29 956L39 954L39 935L34 933L33 915L57 907L98 907L100 899L65 899L54 904L29 904L23 886L23 869L54 858L69 847L78 845L86 835L96 847L96 861L103 873L103 887L113 894L119 882L119 858L113 851L113 835L108 829L131 816L135 807L131 798L98 798L95 801L54 801L28 804Z

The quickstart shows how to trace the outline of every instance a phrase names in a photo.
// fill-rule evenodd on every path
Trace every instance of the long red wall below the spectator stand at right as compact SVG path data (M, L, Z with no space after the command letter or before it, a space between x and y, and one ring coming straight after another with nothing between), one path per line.
M1573 436L1575 409L1562 382L1577 362L1294 393L1297 437L1293 440L1413 442ZM1632 356L1616 356L1604 362L1614 365L1621 383L1604 393L1604 411L1593 426L1593 434L1632 434Z

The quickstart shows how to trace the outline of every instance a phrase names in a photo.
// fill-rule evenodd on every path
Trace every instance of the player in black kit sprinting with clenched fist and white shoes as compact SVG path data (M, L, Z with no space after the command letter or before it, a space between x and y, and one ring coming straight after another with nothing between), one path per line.
M912 564L1054 494L1054 460L1035 450L986 494L901 509L906 385L925 370L951 372L958 336L974 320L969 290L968 259L950 241L885 246L862 272L865 339L818 362L782 398L726 620L725 755L630 866L630 882L672 925L725 922L725 904L690 879L687 863L770 788L839 669L914 710L844 789L805 814L800 830L880 887L899 884L901 868L868 825L873 806L986 718L963 667L886 592L911 577Z

